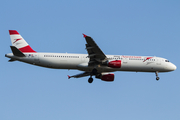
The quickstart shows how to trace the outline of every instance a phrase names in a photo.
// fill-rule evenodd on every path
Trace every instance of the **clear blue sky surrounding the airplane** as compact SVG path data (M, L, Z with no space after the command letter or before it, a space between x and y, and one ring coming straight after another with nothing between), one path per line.
M0 21L0 120L180 120L179 0L3 0ZM105 54L159 56L177 70L89 84L67 78L78 70L8 62L8 30L38 52L86 54L85 33Z

